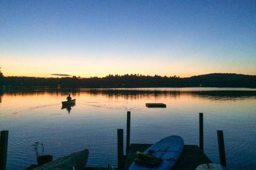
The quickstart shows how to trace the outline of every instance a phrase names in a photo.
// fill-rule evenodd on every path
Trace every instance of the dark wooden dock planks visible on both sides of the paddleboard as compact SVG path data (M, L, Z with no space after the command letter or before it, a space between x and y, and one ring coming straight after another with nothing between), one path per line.
M152 144L131 144L130 150L125 161L125 169L128 170L133 160L136 158L136 152L144 152ZM203 153L197 145L185 145L180 157L173 170L195 170L199 164L212 163L212 161Z

